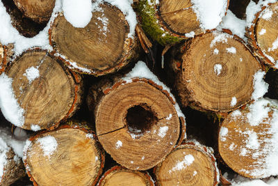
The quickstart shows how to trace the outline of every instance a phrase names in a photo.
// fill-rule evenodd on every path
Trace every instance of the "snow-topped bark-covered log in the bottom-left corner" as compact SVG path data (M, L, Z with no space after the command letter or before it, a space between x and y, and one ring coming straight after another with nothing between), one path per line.
M22 160L0 137L0 185L11 185L25 175Z

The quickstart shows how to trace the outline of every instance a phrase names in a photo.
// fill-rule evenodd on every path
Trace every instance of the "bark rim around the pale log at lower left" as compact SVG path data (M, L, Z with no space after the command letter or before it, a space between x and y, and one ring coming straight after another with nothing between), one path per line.
M72 124L74 124L74 125L72 125ZM97 181L99 180L99 177L101 176L101 173L102 173L102 171L104 169L104 162L105 162L104 149L101 147L101 144L99 143L99 140L97 139L97 135L95 134L94 131L90 130L90 128L87 125L83 125L83 123L76 123L74 121L70 121L70 122L67 122L64 125L60 125L59 127L57 127L55 129L55 131L60 130L60 129L65 129L65 128L72 128L72 129L82 130L85 133L92 134L93 139L95 139L95 142L96 142L95 143L95 147L98 150L97 153L99 153L99 155L101 157L101 164L100 164L100 167L99 167L99 173L97 174L94 182L92 183L92 186L96 185ZM47 132L49 132L49 131L48 130L42 130L42 131L38 132L37 134L34 134L32 137L30 137L28 139L28 141L32 142L35 139L37 139L38 137L40 137L41 134L44 134L44 133L47 133ZM26 153L27 153L27 150L24 151L24 157L26 157ZM28 164L26 162L26 158L23 158L23 163L24 163L24 166L26 168L26 173L27 173L28 177L30 178L31 182L33 183L33 185L34 186L39 186L38 183L36 183L35 179L33 178L30 169L28 169Z

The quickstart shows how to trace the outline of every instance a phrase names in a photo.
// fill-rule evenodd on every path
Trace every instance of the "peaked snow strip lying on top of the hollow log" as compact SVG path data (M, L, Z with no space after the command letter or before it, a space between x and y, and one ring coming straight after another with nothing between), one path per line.
M170 93L171 98L174 100L174 102L176 102L176 100L174 99L174 95L172 95L170 88L168 88L167 86L165 86L165 84L163 84L163 82L159 81L158 77L156 77L156 75L154 75L154 73L149 70L149 68L147 68L146 63L144 63L143 61L138 61L138 63L136 63L136 65L134 66L134 68L127 73L122 80L126 81L126 83L131 83L133 78L145 78L145 79L150 79L153 82L155 82L156 84L158 84L159 86L162 86L163 90L167 91L168 93ZM184 116L184 114L182 113L181 109L179 108L179 104L174 104L174 108L177 111L177 115L179 117L183 117L186 118L186 116Z

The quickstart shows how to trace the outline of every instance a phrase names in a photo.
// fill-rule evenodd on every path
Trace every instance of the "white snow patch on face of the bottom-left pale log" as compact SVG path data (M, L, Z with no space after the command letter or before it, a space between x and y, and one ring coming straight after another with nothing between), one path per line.
M40 143L40 147L44 152L44 156L48 157L50 157L54 153L58 146L56 139L50 135L38 138L38 142Z

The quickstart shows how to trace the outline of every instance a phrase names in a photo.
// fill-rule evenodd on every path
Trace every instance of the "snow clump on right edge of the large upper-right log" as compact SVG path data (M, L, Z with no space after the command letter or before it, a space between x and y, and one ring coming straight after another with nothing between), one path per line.
M265 72L263 72L262 70L259 70L254 74L254 79L253 79L254 91L252 93L253 100L258 100L259 98L263 97L265 93L268 92L268 84L263 81L264 75Z

